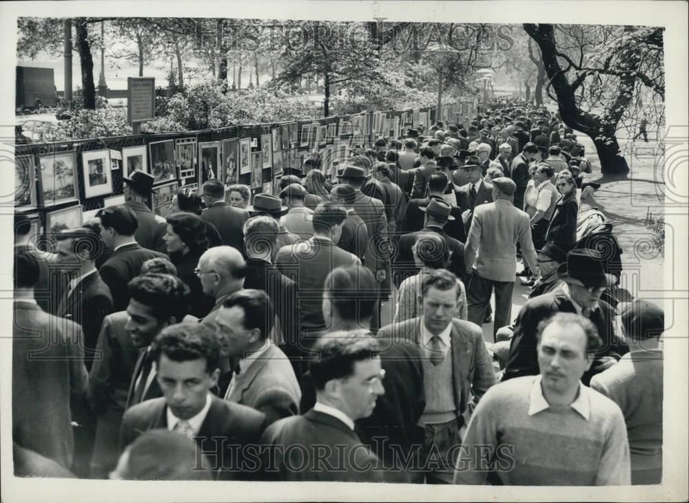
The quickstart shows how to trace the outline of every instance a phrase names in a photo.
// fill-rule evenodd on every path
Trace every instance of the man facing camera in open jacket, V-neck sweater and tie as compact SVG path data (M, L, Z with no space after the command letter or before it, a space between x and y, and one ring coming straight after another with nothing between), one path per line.
M422 317L393 323L379 336L413 341L420 346L424 370L429 463L426 483L451 484L457 446L480 398L495 384L493 363L481 329L456 319L457 278L444 269L433 271L422 283ZM449 459L452 458L452 459Z

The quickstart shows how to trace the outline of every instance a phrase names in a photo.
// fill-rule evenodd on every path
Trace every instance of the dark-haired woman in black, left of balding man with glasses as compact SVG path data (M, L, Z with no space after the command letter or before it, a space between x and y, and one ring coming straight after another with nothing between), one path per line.
M165 244L170 261L177 268L177 277L189 286L189 314L203 318L213 308L215 300L203 293L196 274L198 259L208 249L206 226L193 213L173 213L167 217Z

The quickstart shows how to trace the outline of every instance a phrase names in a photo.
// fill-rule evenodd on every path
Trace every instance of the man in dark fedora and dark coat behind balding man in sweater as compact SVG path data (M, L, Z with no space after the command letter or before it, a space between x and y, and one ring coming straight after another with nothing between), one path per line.
M526 301L515 321L515 334L510 344L504 379L538 374L536 327L556 312L582 314L590 319L603 339L603 345L595 353L593 365L582 377L585 385L588 385L591 377L606 370L628 352L627 345L615 335L613 308L600 298L604 290L614 286L616 281L613 275L604 272L603 260L597 250L571 250L566 264L562 264L557 271L565 284Z

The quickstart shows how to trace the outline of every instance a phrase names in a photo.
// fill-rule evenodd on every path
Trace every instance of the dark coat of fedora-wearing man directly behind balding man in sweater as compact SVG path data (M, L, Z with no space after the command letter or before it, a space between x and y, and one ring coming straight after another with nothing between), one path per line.
M595 352L595 356L596 358L613 356L619 360L620 356L628 352L629 349L615 335L613 308L605 301L598 301L598 305L599 308L591 313L590 321L593 322L599 336L603 339L603 347ZM565 292L559 289L544 293L524 303L517 316L517 321L515 321L515 334L510 343L510 354L503 381L513 377L533 376L539 373L536 328L538 323L557 312L576 312L572 301ZM582 377L584 384L588 385L591 377L597 374L593 370L595 366L596 363L591 365L591 369Z

